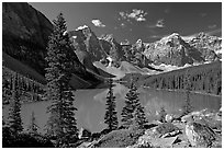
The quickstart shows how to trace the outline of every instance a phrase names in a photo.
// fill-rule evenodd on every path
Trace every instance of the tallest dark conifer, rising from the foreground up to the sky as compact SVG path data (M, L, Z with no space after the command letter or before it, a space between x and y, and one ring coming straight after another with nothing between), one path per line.
M46 61L46 99L52 102L47 108L49 119L47 134L56 137L56 147L68 147L77 139L77 123L72 102L72 89L69 85L72 68L76 66L76 55L71 49L66 21L60 13L54 20L54 31L49 36ZM74 90L75 91L75 90Z

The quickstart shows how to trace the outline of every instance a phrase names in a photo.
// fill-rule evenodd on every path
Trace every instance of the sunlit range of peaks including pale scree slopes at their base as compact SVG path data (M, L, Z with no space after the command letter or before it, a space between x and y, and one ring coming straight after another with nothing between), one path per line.
M87 25L69 31L68 34L79 61L94 72L101 69L116 78L131 72L144 74L169 71L221 58L222 39L205 34L187 38L173 33L154 43L138 39L134 44L127 39L119 44L112 34L98 37ZM128 62L128 66L123 68L124 62ZM130 68L139 69L134 71Z

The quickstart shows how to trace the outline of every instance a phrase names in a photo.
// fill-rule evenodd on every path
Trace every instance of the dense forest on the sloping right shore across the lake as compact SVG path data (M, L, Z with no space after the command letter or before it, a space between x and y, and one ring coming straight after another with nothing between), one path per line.
M192 91L215 95L222 94L222 62L220 61L173 70L160 74L128 74L122 80L127 81L132 76L133 80L137 81L138 85L154 89L183 90L183 79L187 70L190 74Z

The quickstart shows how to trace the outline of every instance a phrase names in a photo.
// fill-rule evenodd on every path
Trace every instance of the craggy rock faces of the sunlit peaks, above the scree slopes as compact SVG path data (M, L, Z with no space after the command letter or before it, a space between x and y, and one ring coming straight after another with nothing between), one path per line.
M115 67L119 67L121 61L128 61L138 67L149 67L148 64L181 67L186 64L214 61L221 58L222 39L203 33L190 41L173 33L155 43L143 43L138 39L132 45L128 42L119 44L112 34L97 37L86 25L69 34L79 51L77 55L80 56L80 61L83 61L83 56L88 56L91 62L104 61L110 57Z

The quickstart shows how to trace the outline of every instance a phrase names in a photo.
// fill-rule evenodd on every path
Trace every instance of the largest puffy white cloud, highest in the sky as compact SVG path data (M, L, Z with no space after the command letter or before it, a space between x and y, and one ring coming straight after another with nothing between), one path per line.
M146 21L145 16L148 13L145 12L144 10L133 9L132 12L119 12L119 14L123 20L127 20L128 22L131 21L128 19L135 20L137 22L144 22Z

